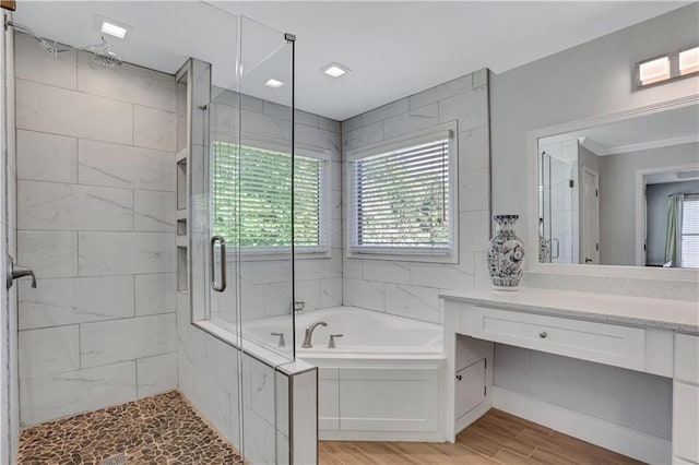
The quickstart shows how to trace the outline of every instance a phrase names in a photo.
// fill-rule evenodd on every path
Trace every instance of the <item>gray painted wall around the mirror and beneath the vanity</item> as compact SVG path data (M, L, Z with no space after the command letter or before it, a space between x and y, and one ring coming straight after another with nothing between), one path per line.
M643 58L676 50L699 41L694 3L596 40L553 55L521 68L494 75L490 86L493 212L517 213L528 218L528 132L566 121L624 111L672 98L697 94L699 79L689 78L633 92L633 63ZM526 239L524 228L518 233ZM532 254L530 253L530 258ZM552 279L555 279L553 277ZM589 279L572 279L589 283ZM628 283L627 283L628 284ZM574 287L573 287L574 288ZM624 293L642 291L642 285L627 285ZM585 289L594 291L594 289ZM672 392L667 380L627 370L541 355L532 350L498 346L495 383L533 398L572 410L583 409L577 398L611 398L612 392L627 392L635 418L619 409L592 408L587 413L618 425L670 438L667 421ZM521 367L528 367L522 369ZM612 374L607 373L611 371ZM584 373L584 375L580 375ZM578 390L567 390L566 380L577 380ZM599 380L614 379L614 384ZM541 390L537 380L550 380ZM584 407L587 409L587 407ZM662 421L656 421L661 418Z

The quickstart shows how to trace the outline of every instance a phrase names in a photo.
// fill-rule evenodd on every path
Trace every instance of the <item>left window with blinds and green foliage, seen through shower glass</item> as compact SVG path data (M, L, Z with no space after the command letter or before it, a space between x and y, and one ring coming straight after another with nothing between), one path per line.
M328 251L325 160L296 155L292 180L289 154L218 141L213 152L215 235L250 252L291 247L294 182L294 245L299 251Z

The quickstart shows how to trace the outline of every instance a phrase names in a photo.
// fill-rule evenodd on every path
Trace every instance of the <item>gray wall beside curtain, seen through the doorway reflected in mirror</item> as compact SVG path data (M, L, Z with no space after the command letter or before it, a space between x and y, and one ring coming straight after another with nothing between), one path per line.
M645 188L645 202L648 204L645 262L649 265L661 266L665 262L667 195L688 192L699 192L699 180L649 184Z

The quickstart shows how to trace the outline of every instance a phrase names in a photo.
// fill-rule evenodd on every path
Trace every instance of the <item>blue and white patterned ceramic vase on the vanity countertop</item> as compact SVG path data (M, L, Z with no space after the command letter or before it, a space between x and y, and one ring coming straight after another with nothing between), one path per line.
M517 290L524 265L524 242L514 234L519 215L495 215L498 228L488 246L488 270L493 287Z

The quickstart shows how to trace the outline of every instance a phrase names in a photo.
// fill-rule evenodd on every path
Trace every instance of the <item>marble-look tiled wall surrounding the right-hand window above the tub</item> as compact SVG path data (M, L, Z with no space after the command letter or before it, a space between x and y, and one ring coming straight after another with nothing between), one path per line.
M488 119L487 70L481 70L343 121L343 153L450 121L459 132L459 263L345 259L344 305L439 323L440 291L488 285Z

